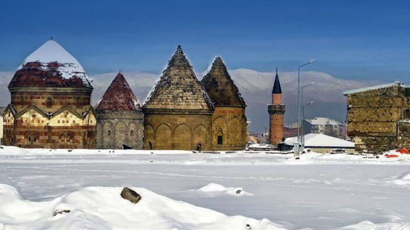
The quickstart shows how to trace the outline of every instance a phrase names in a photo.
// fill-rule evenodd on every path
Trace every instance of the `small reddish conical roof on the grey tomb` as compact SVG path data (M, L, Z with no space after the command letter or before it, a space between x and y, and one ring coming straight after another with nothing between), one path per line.
M98 110L133 110L141 109L141 104L129 87L121 72L115 76L102 95L95 109Z

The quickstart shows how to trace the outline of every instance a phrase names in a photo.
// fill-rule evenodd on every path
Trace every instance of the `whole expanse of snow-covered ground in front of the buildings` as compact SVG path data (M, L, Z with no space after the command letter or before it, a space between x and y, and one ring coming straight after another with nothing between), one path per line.
M4 147L0 229L410 229L410 156L398 155Z

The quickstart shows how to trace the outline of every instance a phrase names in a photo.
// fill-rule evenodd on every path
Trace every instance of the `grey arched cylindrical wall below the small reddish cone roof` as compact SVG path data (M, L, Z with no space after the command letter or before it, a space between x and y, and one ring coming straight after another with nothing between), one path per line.
M97 148L121 149L126 144L143 148L143 113L127 110L97 110Z

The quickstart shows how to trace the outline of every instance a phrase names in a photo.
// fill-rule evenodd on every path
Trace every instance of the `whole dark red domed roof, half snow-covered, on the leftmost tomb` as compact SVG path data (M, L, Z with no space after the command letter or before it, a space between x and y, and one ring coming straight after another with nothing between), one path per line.
M88 87L81 64L52 38L28 55L8 87Z

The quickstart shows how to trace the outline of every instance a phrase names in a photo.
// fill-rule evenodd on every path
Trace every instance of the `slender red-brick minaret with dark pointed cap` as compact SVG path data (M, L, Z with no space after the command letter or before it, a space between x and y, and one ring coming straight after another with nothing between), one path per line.
M285 111L285 105L282 104L282 89L280 88L277 68L272 89L272 104L267 106L267 111L269 112L269 143L276 144L282 141L283 114Z

